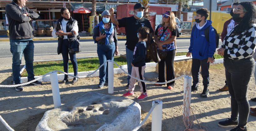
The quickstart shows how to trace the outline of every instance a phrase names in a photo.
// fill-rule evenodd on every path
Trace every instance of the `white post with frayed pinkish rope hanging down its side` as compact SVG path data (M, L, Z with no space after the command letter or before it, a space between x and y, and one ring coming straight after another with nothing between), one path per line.
M185 113L185 117L190 116L190 101L191 101L191 85L192 78L190 76L184 77L184 97L185 103L183 103L183 113ZM185 106L184 106L185 105Z

